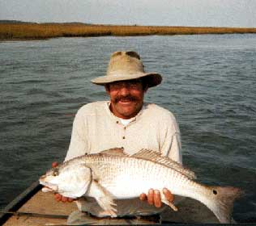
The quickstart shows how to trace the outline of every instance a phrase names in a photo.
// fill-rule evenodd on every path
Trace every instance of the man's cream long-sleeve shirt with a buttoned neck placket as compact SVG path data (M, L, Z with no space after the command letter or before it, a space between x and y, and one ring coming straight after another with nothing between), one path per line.
M99 153L112 148L123 148L133 154L151 149L182 163L181 138L173 114L156 104L148 104L124 125L109 110L109 102L88 103L75 115L70 147L65 161L85 153ZM81 207L82 205L82 207ZM94 199L78 203L83 211L99 216L102 211ZM117 200L117 215L150 215L163 211L139 199Z

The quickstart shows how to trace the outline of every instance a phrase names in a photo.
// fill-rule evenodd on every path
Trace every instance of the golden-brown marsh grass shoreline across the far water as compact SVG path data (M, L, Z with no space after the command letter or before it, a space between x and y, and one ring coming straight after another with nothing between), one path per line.
M93 36L170 36L245 33L256 33L256 28L86 25L83 23L0 23L0 40L46 40L59 37Z

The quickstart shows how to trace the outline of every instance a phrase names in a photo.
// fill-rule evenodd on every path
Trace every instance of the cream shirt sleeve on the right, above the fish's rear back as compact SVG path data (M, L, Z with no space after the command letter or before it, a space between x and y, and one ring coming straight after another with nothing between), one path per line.
M164 134L164 144L162 145L161 153L171 158L173 161L182 164L181 133L177 121L175 117L171 115L169 120L165 123L167 128Z

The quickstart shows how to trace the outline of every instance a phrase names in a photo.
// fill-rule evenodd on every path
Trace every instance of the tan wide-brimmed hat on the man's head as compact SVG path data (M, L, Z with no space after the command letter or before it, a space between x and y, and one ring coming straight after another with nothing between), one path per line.
M143 62L137 52L113 52L110 57L107 75L92 79L92 83L104 86L110 82L145 77L148 87L157 86L162 77L159 73L145 73Z

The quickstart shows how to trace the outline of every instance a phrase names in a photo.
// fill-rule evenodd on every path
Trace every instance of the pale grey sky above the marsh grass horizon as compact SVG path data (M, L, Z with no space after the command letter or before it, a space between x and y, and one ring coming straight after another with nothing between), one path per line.
M0 0L0 19L36 23L256 27L256 0Z

